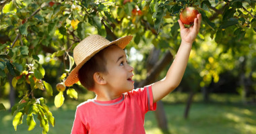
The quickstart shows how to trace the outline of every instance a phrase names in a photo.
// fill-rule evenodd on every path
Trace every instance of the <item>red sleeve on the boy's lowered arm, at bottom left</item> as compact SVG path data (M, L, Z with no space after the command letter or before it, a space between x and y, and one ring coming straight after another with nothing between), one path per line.
M71 130L71 134L82 134L82 133L88 133L86 126L84 125L82 121L82 115L81 111L79 111L79 107L77 107L75 111L75 120L73 122L73 127Z

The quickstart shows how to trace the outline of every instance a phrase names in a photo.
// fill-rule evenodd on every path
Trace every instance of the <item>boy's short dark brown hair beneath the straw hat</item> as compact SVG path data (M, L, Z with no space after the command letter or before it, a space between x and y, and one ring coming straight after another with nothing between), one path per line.
M94 73L104 73L107 71L106 60L104 58L104 50L106 50L106 48L100 50L100 52L92 56L92 58L90 58L90 60L88 60L78 71L79 81L88 90L92 90L92 88L94 87Z

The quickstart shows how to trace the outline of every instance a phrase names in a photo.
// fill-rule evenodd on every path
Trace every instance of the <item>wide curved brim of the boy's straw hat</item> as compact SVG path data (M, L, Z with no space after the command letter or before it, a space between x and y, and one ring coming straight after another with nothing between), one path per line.
M69 76L67 76L67 79L65 80L65 86L72 86L73 84L75 84L76 82L79 81L78 78L78 71L80 68L82 68L82 66L88 61L90 60L90 58L92 58L92 56L94 56L95 54L97 54L98 52L100 52L100 50L103 50L104 48L106 48L107 46L110 45L117 45L120 48L124 49L127 44L129 44L129 42L131 42L131 39L133 38L133 36L125 36L123 38L119 38L113 42L110 42L109 44L106 44L104 46L102 46L102 48L98 48L98 50L94 51L92 54L90 54L90 56L87 56L86 58L84 58L84 60L79 63L77 66L75 66L75 68L70 72Z

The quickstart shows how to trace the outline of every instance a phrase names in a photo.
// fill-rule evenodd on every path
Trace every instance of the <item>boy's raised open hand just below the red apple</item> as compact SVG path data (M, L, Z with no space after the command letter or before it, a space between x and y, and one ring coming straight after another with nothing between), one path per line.
M201 25L201 13L197 14L197 18L194 19L194 24L191 27L186 28L181 20L178 20L179 25L181 27L181 40L183 42L192 44L197 37L197 34Z

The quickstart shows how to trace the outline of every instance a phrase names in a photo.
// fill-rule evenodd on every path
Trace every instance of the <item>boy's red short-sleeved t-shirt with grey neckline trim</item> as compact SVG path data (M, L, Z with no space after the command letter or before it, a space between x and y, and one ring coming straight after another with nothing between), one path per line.
M155 111L152 87L133 89L110 101L87 100L77 106L71 133L145 133L144 118Z

